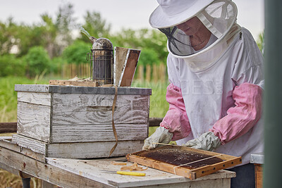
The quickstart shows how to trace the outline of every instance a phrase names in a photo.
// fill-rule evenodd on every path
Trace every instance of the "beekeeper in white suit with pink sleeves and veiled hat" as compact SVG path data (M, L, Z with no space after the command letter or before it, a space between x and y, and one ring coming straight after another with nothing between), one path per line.
M254 187L250 153L263 151L263 57L252 35L235 21L229 0L157 0L149 23L168 38L169 109L160 127L145 139L231 156L232 187Z

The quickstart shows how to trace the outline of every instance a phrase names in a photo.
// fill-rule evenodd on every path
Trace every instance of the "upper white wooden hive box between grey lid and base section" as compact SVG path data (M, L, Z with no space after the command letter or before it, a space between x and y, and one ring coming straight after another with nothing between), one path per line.
M18 92L18 134L43 142L114 141L111 94ZM149 96L118 95L114 123L119 140L148 136Z

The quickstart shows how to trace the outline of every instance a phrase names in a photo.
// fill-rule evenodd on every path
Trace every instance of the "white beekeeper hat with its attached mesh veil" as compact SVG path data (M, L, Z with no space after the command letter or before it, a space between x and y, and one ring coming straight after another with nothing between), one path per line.
M240 32L235 23L237 7L230 0L157 0L149 23L164 32L168 38L168 51L177 58L184 58L192 70L202 70L218 59L233 38ZM190 43L190 36L177 25L197 17L212 32L209 42L200 51Z

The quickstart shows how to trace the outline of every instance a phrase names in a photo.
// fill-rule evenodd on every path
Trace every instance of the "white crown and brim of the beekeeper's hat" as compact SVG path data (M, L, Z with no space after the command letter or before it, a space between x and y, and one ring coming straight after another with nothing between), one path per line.
M173 27L200 13L214 0L157 0L159 6L149 17L154 28Z

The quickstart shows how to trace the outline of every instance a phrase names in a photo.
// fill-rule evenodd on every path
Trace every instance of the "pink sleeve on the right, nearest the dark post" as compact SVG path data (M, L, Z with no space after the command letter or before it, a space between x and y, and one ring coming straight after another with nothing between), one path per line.
M210 131L226 144L248 132L262 114L262 88L255 84L243 83L233 90L235 106L227 115L216 121Z

